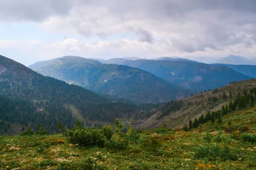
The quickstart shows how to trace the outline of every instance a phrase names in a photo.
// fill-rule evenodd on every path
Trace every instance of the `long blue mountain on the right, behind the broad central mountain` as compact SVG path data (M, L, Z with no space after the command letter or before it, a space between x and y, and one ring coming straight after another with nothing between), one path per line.
M183 88L201 92L227 85L229 82L250 79L241 73L221 65L198 62L163 60L126 60L122 63L148 71Z

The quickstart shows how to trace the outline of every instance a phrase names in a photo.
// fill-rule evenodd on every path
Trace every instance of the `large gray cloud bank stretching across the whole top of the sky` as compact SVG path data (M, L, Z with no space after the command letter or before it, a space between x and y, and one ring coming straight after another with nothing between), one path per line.
M0 0L0 21L35 21L86 38L133 34L151 44L144 49L168 44L194 53L255 45L255 6L256 0Z

